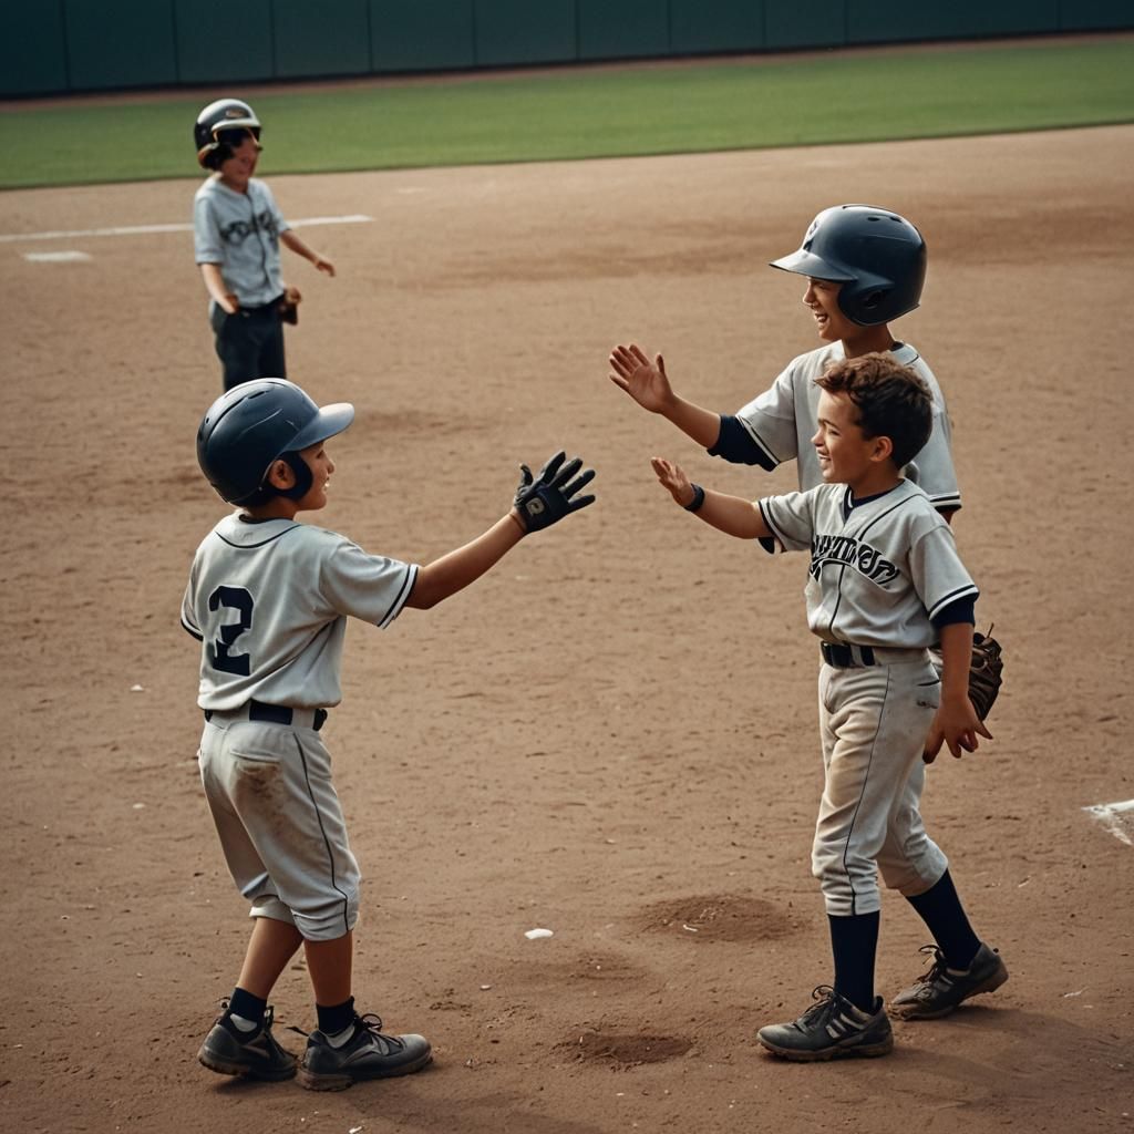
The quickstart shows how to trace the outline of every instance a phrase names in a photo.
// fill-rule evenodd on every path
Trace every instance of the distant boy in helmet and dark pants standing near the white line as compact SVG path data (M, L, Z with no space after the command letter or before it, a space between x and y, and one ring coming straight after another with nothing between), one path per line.
M268 183L253 176L260 134L260 119L238 99L209 103L193 127L197 162L211 171L193 198L193 240L226 390L253 378L287 376L284 320L296 321L302 296L284 284L280 244L335 274L335 265L288 226Z

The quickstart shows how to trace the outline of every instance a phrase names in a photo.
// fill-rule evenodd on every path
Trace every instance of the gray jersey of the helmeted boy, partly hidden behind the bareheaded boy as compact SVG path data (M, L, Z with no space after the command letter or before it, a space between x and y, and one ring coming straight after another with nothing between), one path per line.
M933 372L908 342L890 354L924 379L933 395L933 432L916 458L905 467L904 475L924 489L936 508L959 508L960 490L953 467L951 430L941 388ZM781 464L795 458L802 492L823 483L815 447L811 443L822 392L815 386L815 379L831 363L841 362L845 357L843 344L835 342L793 358L771 389L736 414L752 439L773 462Z

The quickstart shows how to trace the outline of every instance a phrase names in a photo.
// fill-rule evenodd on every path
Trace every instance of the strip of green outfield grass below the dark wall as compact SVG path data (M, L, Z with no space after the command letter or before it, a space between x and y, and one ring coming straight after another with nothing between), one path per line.
M0 188L196 177L204 101L8 103ZM1134 121L1134 37L278 87L253 101L265 176L993 134Z

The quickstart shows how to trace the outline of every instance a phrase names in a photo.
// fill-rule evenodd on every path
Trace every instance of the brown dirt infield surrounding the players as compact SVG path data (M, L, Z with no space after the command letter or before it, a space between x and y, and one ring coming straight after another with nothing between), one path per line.
M219 374L192 237L31 238L187 220L195 181L0 195L3 1128L1134 1129L1134 824L1083 810L1134 797L1134 128L262 172L289 218L373 218L304 232L337 279L290 263L290 374L359 411L321 522L430 559L559 446L595 466L599 503L437 610L348 635L328 735L366 878L358 998L429 1035L434 1066L338 1095L211 1075L195 1052L247 923L178 625L220 515L193 452ZM804 561L684 516L649 457L752 496L793 474L712 460L606 356L636 338L736 409L815 342L799 281L765 262L849 200L930 245L897 328L949 398L955 526L1007 685L995 743L942 758L925 810L1012 980L896 1025L887 1059L792 1066L753 1033L830 976ZM25 257L44 252L91 259ZM887 895L879 991L923 941ZM274 1001L299 1049L301 968Z

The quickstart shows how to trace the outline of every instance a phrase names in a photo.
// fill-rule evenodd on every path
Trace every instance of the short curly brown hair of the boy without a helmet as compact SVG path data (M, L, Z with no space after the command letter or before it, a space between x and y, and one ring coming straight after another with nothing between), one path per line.
M828 393L845 393L858 411L863 437L888 437L894 464L908 464L933 430L933 396L924 380L890 355L866 354L837 362L815 384Z

